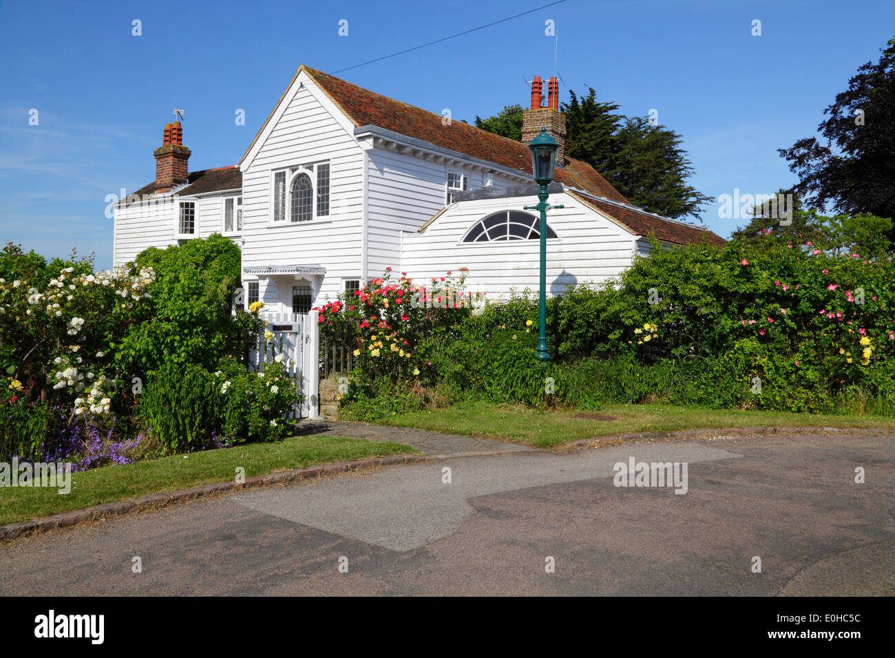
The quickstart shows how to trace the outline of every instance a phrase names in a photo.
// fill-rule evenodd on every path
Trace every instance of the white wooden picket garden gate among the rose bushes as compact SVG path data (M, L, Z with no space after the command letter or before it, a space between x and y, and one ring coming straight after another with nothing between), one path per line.
M317 418L320 415L318 313L261 313L260 317L267 321L264 329L272 332L273 338L260 337L258 346L249 351L249 368L261 372L265 363L283 355L286 373L304 396L301 406L296 405L289 417L293 420Z

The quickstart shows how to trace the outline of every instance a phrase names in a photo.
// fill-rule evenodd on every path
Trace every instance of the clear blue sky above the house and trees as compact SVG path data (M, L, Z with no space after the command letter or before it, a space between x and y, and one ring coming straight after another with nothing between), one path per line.
M47 256L76 247L108 268L106 196L153 180L152 150L174 107L186 112L190 169L232 165L299 64L335 73L548 2L3 2L0 240ZM567 0L337 74L472 123L525 105L524 81L552 74L549 19L561 99L590 86L626 115L655 108L684 138L692 184L713 198L795 182L776 150L813 135L823 108L895 35L891 0ZM718 208L703 220L726 237L742 221Z

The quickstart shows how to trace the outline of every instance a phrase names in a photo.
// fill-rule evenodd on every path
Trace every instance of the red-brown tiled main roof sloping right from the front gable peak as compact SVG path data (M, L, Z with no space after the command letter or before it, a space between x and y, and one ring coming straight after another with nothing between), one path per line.
M443 149L456 150L458 153L526 174L532 171L531 153L520 141L501 137L462 121L451 121L445 125L442 124L442 115L362 89L304 64L299 72L302 70L320 85L320 89L356 126L378 125L407 137L428 141ZM613 201L627 201L593 167L580 160L568 158L564 169L557 167L556 180Z

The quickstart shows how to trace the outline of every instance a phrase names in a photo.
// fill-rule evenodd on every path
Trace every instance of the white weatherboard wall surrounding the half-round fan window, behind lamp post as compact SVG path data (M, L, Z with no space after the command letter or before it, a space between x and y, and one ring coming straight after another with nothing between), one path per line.
M461 243L466 232L480 219L499 210L522 210L533 215L536 196L461 201L447 209L422 233L405 233L401 270L419 283L431 277L454 274L469 268L466 286L487 292L488 298L507 295L540 285L540 240L508 240ZM630 267L634 254L633 235L568 194L551 194L549 202L565 205L551 209L547 224L558 239L547 241L547 286L549 295L562 293L573 283L602 283Z

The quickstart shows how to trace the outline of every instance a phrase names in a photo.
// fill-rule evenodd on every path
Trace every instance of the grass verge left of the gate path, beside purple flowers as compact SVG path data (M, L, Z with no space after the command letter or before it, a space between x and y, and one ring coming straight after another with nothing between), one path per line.
M303 436L275 443L251 443L189 455L145 459L125 466L103 466L72 473L72 491L68 494L59 494L53 488L0 487L0 525L129 500L148 493L232 482L237 466L245 469L246 477L252 477L402 453L420 454L418 450L399 443Z

